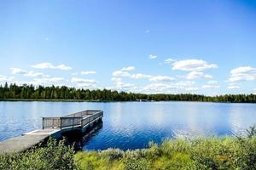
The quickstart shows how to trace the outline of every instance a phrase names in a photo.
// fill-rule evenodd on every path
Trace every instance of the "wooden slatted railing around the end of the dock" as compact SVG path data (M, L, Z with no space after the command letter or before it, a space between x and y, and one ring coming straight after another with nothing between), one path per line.
M80 111L67 116L43 117L43 129L84 127L102 116L103 111Z

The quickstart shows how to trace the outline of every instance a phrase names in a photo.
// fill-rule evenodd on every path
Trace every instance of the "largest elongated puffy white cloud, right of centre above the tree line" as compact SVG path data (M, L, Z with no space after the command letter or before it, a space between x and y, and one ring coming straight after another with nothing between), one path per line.
M183 59L172 63L172 70L174 71L205 71L213 68L218 68L218 65L208 64L202 59Z

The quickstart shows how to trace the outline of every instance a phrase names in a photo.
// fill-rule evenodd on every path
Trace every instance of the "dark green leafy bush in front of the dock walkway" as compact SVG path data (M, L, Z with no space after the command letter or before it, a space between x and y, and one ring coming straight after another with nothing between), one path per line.
M45 147L0 156L0 169L73 169L73 148L49 139Z

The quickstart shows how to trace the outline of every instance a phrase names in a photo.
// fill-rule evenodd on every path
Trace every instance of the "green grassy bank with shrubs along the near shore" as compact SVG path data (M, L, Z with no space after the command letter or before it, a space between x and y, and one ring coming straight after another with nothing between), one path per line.
M0 156L0 169L256 169L256 137L174 139L148 149L81 151L51 139L13 156Z

